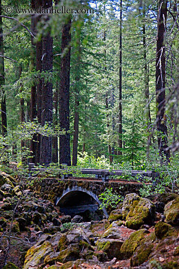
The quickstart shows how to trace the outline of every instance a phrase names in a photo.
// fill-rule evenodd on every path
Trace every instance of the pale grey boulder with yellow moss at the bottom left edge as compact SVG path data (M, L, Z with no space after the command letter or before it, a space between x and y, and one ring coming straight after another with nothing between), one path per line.
M55 253L50 242L45 241L42 245L34 245L31 247L25 255L25 262L23 269L29 269L32 267L38 268L42 266L47 255Z

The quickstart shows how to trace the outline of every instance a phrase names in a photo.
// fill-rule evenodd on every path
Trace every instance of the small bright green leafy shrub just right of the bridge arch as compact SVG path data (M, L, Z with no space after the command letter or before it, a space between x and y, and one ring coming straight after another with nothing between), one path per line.
M108 206L115 207L119 202L123 201L123 197L113 191L113 188L109 188L99 195L99 200L101 201L99 209L102 209Z

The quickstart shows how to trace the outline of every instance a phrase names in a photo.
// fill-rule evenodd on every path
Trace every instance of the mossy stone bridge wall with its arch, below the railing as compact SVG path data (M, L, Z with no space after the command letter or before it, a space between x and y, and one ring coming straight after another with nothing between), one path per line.
M128 193L139 194L141 183L111 180L102 182L98 179L40 179L34 180L34 191L43 199L48 199L60 206L66 215L76 215L85 210L95 211L99 208L99 194L112 188L121 196ZM103 209L107 217L107 211Z

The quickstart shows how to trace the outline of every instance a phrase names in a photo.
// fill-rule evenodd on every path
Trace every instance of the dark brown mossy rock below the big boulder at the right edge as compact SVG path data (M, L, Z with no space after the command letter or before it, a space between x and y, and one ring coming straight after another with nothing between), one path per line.
M168 236L177 236L177 231L170 224L159 222L155 226L155 234L158 239L164 239Z

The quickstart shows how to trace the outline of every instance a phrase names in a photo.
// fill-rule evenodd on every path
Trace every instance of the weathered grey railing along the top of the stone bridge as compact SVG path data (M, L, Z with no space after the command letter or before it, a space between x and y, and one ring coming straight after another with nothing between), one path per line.
M35 168L34 163L29 163L29 175L32 175L32 172L38 172L38 171L49 171L53 170L50 168ZM109 181L109 176L124 176L124 175L130 175L132 177L138 177L139 179L148 177L152 178L152 181L155 181L156 178L159 178L159 172L156 172L155 170L152 171L138 171L138 170L108 170L108 169L77 169L78 173L82 175L95 175L96 179L101 179L103 182ZM56 169L57 171L57 169ZM73 172L69 171L67 167L59 168L58 172L62 179L68 179L70 176L73 176ZM77 172L76 172L77 173Z

